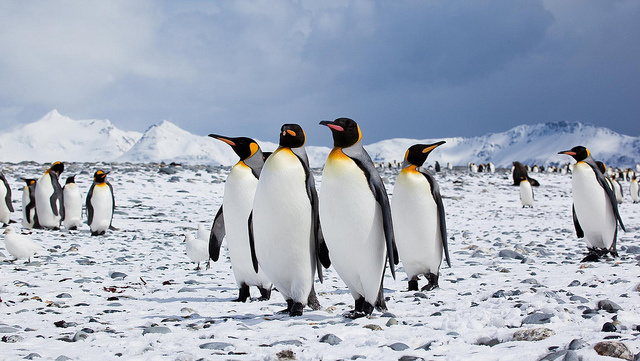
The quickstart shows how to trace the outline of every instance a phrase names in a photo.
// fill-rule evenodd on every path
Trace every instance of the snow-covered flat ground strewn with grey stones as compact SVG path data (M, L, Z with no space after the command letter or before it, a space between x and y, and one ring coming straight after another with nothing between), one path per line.
M45 167L2 165L13 220L21 220L20 178ZM182 234L210 227L229 168L68 164L62 179L78 173L86 195L99 167L112 171L118 231L33 231L47 251L30 264L10 263L0 246L0 360L606 360L594 350L605 339L624 343L630 357L640 352L640 204L620 206L619 258L580 263L570 175L536 174L535 207L523 209L507 171L439 173L452 256L440 288L407 292L400 267L397 280L385 278L388 313L349 320L341 315L353 300L333 269L316 284L323 309L297 318L276 313L285 307L277 292L231 302L226 250L194 270ZM396 174L383 176L391 193ZM601 300L621 310L598 310ZM602 331L607 322L615 332ZM548 337L519 341L530 329Z

